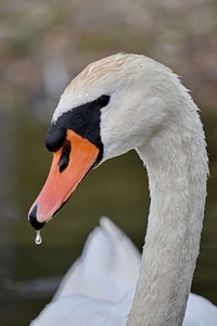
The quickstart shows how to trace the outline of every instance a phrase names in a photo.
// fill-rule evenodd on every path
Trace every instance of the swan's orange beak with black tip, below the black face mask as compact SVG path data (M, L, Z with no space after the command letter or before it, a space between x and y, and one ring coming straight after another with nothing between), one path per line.
M78 184L95 163L100 150L88 139L67 129L63 147L53 153L47 181L29 210L30 223L41 227L67 201ZM36 225L36 226L35 226Z

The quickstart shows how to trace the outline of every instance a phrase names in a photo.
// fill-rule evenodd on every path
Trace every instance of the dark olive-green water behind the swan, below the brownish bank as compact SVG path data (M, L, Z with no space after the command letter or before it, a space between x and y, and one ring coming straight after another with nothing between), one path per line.
M210 178L192 290L217 304L217 117L203 114L203 121ZM51 154L43 146L47 124L21 112L2 113L0 124L4 196L0 211L0 322L3 326L23 326L50 301L100 216L110 216L142 248L149 192L145 171L135 152L105 162L86 177L58 217L42 230L42 244L36 246L27 212L50 167Z

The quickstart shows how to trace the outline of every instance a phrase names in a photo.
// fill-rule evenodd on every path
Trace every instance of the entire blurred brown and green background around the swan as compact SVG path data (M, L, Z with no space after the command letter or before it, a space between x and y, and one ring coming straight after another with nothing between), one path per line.
M89 174L35 244L27 212L47 177L60 95L89 62L124 51L170 66L201 108L210 178L192 291L217 304L217 1L0 1L0 325L24 326L54 293L102 215L141 250L146 175L136 153Z

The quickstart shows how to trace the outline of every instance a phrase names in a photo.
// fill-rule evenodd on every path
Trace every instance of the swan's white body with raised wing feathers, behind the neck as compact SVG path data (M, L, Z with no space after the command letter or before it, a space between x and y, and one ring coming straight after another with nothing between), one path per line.
M88 237L53 297L30 326L125 326L139 275L140 253L107 217ZM84 313L85 312L85 313ZM183 326L217 325L216 306L190 293Z

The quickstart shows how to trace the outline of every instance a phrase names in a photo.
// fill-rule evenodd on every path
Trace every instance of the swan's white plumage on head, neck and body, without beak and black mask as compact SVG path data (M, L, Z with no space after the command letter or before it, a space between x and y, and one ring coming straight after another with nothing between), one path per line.
M119 53L90 64L72 82L53 128L65 112L102 95L110 96L100 115L102 162L136 149L148 170L151 205L141 263L130 240L103 218L31 325L215 326L216 306L189 298L208 173L197 108L169 68Z

